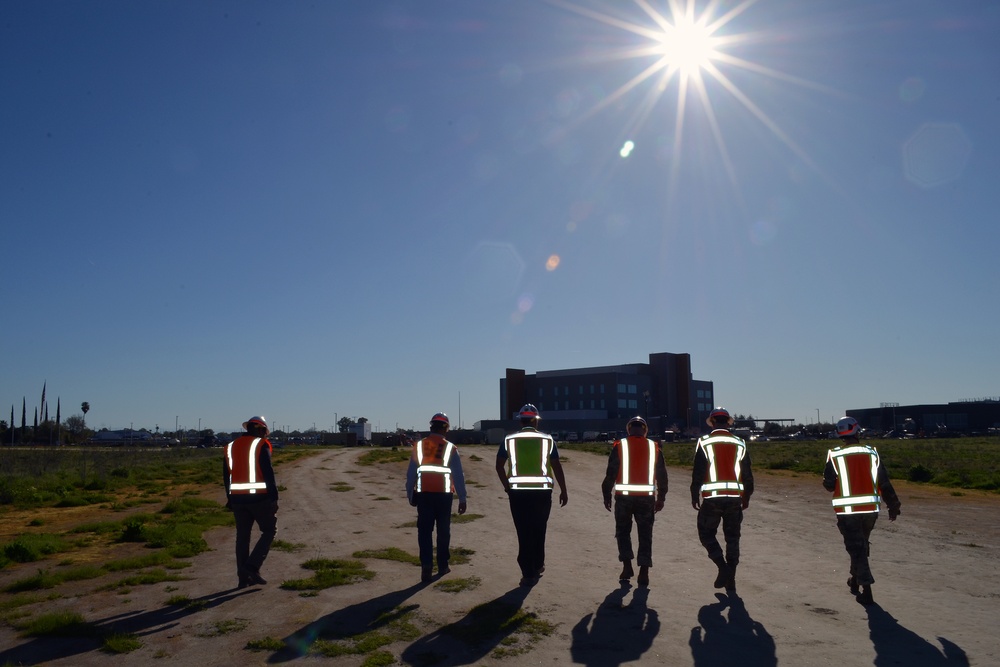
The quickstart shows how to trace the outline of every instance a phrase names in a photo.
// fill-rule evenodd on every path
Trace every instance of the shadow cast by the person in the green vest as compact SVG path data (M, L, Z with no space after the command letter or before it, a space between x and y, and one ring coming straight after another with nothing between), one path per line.
M518 586L407 646L400 654L404 664L421 667L454 667L482 660L525 622L518 614L531 589Z

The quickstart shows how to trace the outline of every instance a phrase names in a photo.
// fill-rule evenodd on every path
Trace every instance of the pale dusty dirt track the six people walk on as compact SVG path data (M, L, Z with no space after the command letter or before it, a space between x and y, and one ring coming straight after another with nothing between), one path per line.
M424 633L387 647L404 664L1000 664L1000 498L995 495L955 497L897 483L903 513L895 523L883 515L875 529L877 604L865 608L844 583L847 554L819 479L758 472L757 494L744 520L739 595L729 598L712 588L714 566L697 541L690 473L671 469L671 492L654 530L652 581L648 589L638 589L617 581L614 521L600 496L605 459L566 451L569 504L553 508L547 570L529 590L517 585L516 539L493 453L487 447L462 448L469 513L484 516L453 526L453 546L475 554L445 579L478 577L481 584L473 590L447 593L421 585L417 567L384 560L366 561L377 572L374 579L315 597L278 587L306 576L300 564L309 558L349 558L359 549L389 546L416 553L416 531L403 526L415 519L403 492L405 466L361 467L354 463L358 450L334 450L278 470L288 487L278 537L307 546L297 553L272 551L262 571L267 586L233 589L233 533L216 530L206 536L213 550L193 559L182 582L137 587L127 595L94 593L99 583L82 582L60 588L59 599L28 608L77 610L91 623L136 633L143 648L110 656L94 650L92 642L25 639L3 627L0 664L359 665L362 656L302 658L301 647L337 630L363 629L393 608L417 610ZM335 492L336 482L354 490ZM37 564L8 568L0 572L0 585L35 569ZM73 590L79 596L68 595ZM172 595L205 604L198 611L166 606ZM506 646L499 636L470 645L436 632L466 619L477 605L503 603L537 614L556 626L554 633L527 653L500 659L493 655ZM244 629L216 631L217 623L238 619L237 625L245 621ZM244 648L265 637L293 648Z

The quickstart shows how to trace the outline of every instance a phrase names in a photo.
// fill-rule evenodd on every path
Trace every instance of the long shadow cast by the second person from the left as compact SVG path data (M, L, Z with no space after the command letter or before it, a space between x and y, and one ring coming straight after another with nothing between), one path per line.
M395 609L428 585L427 582L419 582L331 612L285 637L285 648L272 654L267 661L279 663L301 658L309 653L309 648L317 639L345 639L378 630L398 617L398 614L384 612Z

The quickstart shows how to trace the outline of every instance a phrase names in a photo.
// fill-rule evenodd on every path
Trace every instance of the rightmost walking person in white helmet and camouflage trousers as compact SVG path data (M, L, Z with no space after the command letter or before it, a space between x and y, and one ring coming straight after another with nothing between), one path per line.
M889 521L899 516L900 502L881 457L874 447L861 444L860 433L861 426L854 417L843 417L837 422L842 444L827 453L823 488L833 492L837 528L851 557L847 585L858 602L869 605L874 603L872 584L875 583L868 563L869 538L878 519L880 501L884 500L889 509Z

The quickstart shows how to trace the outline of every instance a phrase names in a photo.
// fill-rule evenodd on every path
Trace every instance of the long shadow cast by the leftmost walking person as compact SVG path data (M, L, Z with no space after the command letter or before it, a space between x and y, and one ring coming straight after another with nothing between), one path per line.
M175 627L182 618L211 609L253 590L229 589L188 600L184 605L168 605L148 611L135 610L67 629L68 636L36 637L19 646L0 651L0 665L36 665L99 649L112 634L151 635Z

